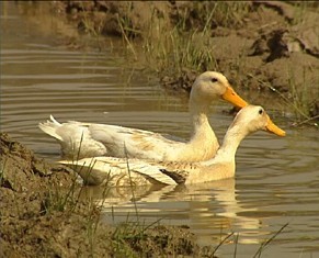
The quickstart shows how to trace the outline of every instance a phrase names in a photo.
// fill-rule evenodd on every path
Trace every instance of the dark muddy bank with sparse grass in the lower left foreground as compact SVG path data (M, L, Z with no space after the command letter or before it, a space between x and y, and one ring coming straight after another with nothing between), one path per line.
M186 227L99 221L76 175L0 134L0 257L204 256Z

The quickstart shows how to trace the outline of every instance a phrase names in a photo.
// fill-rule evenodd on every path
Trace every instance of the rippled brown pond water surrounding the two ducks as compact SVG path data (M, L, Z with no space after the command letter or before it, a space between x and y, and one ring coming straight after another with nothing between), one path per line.
M168 94L156 76L128 65L121 44L102 52L61 47L54 44L53 34L26 22L19 5L7 4L1 7L2 132L52 160L59 158L59 145L37 128L49 114L61 122L119 124L187 137L185 99ZM54 33L56 27L48 24ZM223 112L228 108L217 102L212 109L220 139L232 120ZM212 246L235 233L218 249L219 257L232 256L235 248L237 257L252 257L285 224L262 257L317 257L318 131L290 128L281 117L274 121L287 136L259 132L244 139L235 179L134 193L112 189L105 200L101 188L87 188L86 194L104 206L103 220L109 223L189 225L201 245Z

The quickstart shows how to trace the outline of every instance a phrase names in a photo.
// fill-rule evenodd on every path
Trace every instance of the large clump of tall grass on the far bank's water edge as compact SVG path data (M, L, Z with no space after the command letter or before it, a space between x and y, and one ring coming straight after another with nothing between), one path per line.
M179 12L173 26L158 18L155 9L150 11L151 22L144 32L136 32L125 14L123 18L117 16L117 23L123 41L135 60L140 59L136 48L141 45L149 68L179 77L184 68L196 71L216 69L214 44L210 41L212 26L238 25L249 9L250 4L243 2L194 2L192 10ZM197 29L190 29L190 15L200 24ZM130 31L139 37L137 40L130 37L128 33Z

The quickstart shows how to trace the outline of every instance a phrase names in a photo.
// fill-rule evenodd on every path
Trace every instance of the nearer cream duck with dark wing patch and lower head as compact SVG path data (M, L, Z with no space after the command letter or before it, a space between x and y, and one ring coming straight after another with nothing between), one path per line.
M233 178L236 152L240 142L257 131L285 136L260 105L242 108L228 127L215 157L202 161L153 161L129 158L94 157L60 160L71 166L87 184L143 186L194 184Z

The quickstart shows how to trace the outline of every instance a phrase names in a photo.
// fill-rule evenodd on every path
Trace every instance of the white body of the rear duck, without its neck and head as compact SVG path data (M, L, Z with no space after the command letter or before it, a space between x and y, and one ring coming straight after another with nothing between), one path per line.
M48 134L60 142L62 156L68 159L83 157L128 157L151 160L192 160L207 159L215 155L218 147L213 131L205 132L205 138L213 145L198 145L196 142L178 142L158 133L107 124L87 124L67 122L60 124L53 116L52 122L42 125ZM47 127L45 127L47 126ZM80 152L76 152L80 150Z

